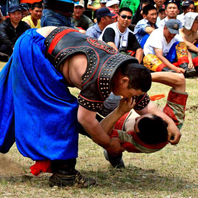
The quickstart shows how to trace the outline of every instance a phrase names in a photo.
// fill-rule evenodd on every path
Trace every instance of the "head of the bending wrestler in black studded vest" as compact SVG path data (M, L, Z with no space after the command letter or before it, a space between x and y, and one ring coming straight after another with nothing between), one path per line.
M112 80L112 92L124 98L142 95L150 87L150 71L138 63L124 63L116 71Z

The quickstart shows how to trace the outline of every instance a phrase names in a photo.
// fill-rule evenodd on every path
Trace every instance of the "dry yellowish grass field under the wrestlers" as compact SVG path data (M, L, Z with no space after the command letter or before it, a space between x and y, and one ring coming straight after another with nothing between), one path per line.
M0 63L0 68L4 63ZM167 145L153 154L124 153L126 169L116 170L103 157L103 149L80 136L77 169L94 177L98 185L89 189L50 188L50 174L32 176L34 162L24 158L14 145L0 155L0 197L97 197L97 198L197 198L198 197L198 81L187 79L189 93L186 121L177 146ZM153 83L149 95L165 93L169 88ZM73 89L74 94L78 90ZM165 99L157 101L159 106Z

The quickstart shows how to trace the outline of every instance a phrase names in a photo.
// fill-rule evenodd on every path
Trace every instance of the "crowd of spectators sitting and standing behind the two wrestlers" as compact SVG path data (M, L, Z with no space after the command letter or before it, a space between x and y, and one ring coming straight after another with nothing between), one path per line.
M1 61L9 59L26 29L68 26L136 57L151 71L173 70L187 77L198 64L198 14L193 0L9 0L0 4ZM148 54L155 55L155 64Z

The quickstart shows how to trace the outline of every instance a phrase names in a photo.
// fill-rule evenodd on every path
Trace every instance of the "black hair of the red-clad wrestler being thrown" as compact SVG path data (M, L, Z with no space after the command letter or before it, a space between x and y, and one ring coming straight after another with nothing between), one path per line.
M159 144L168 140L167 123L159 116L152 118L144 117L138 123L139 133L137 136L145 144Z

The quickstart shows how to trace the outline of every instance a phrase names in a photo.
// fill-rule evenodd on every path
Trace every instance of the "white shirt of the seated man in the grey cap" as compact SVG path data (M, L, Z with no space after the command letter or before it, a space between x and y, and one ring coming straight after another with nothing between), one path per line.
M154 30L149 38L147 39L144 45L144 54L155 54L154 48L162 49L163 56L166 57L172 45L177 41L183 41L182 37L178 34L171 40L170 43L167 43L164 34L164 28L158 28Z

